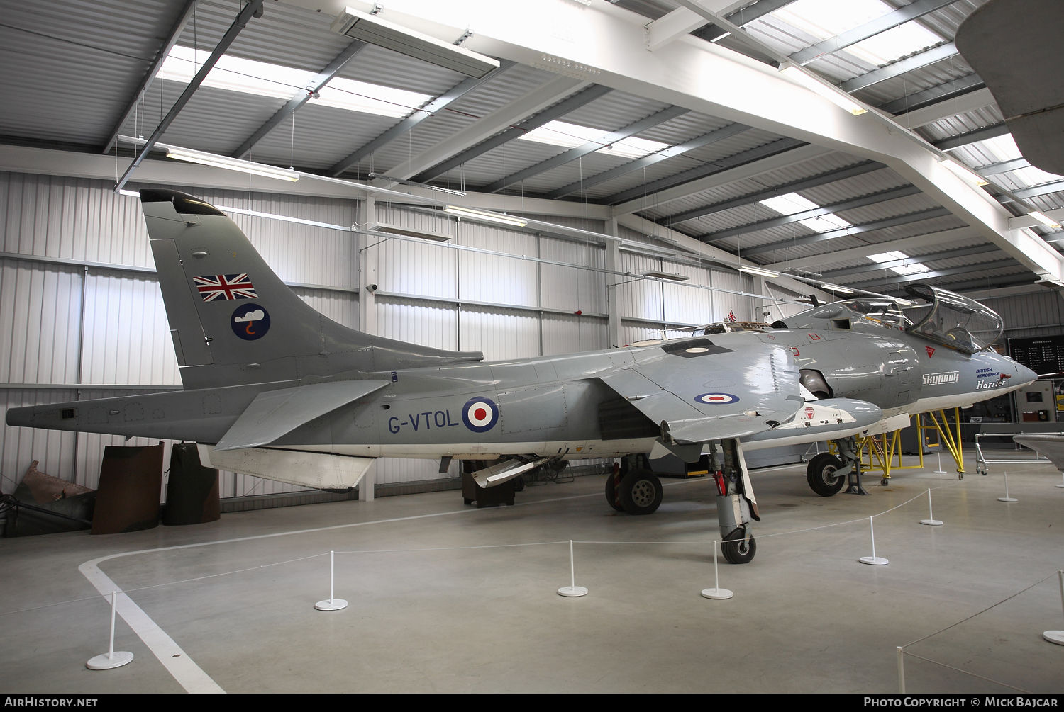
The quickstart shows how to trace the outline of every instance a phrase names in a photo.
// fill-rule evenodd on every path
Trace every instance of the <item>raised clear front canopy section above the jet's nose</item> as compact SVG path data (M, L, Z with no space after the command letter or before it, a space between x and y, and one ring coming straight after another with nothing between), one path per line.
M996 311L967 296L927 284L910 285L905 292L916 300L902 307L910 334L974 354L997 341L1004 329Z

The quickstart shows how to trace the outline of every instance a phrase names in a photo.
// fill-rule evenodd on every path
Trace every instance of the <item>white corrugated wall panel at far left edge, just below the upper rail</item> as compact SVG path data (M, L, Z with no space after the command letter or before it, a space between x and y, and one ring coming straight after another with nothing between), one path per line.
M0 259L0 383L77 382L81 272Z

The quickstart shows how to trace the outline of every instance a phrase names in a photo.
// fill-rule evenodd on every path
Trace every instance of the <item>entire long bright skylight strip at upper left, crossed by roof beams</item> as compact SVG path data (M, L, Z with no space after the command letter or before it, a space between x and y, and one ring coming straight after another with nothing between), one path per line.
M156 77L187 84L209 55L205 51L197 53L190 47L174 45ZM309 87L315 77L316 73L312 71L226 54L206 75L203 86L292 99L296 92ZM432 99L429 95L416 91L340 78L333 79L318 94L320 99L311 101L325 106L394 118L406 116Z

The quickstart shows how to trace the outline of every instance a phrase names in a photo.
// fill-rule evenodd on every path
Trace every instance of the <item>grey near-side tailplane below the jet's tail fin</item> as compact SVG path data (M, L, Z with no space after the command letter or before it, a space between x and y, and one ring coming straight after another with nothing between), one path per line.
M228 451L269 444L300 425L389 383L337 380L260 393L214 448Z

